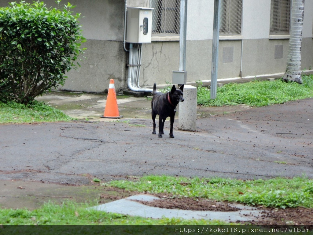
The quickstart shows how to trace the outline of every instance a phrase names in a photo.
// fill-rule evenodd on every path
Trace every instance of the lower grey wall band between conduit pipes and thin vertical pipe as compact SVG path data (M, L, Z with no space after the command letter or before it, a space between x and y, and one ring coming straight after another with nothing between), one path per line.
M241 41L220 41L218 78L238 77ZM231 48L232 53L223 53ZM224 54L224 55L223 55ZM225 60L225 57L228 60ZM212 40L187 40L187 82L211 79ZM172 83L172 71L179 67L179 42L152 42L142 46L141 86Z

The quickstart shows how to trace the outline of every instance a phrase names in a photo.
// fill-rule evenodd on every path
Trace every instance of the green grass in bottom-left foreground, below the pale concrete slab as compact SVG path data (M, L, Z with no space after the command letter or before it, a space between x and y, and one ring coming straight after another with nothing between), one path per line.
M39 209L0 209L2 225L229 225L223 221L151 219L117 213L88 210L92 204L65 201L61 205L48 202Z

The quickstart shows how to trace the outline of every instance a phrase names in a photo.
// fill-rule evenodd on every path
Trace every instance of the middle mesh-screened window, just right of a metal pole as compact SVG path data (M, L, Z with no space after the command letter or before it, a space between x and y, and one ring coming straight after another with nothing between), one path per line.
M241 35L242 0L220 0L220 35Z

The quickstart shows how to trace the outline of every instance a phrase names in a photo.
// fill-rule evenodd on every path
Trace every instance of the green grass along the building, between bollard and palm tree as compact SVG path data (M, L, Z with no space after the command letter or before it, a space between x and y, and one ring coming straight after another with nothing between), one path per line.
M302 76L303 84L295 82L251 81L229 83L217 88L216 99L210 99L210 90L198 86L198 104L226 106L245 104L254 107L281 104L313 97L313 75Z

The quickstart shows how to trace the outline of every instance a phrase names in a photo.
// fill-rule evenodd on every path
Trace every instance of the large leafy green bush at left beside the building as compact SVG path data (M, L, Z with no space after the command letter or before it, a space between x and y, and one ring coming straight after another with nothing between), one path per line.
M64 84L64 74L79 66L74 61L85 39L70 3L62 9L39 1L9 4L0 8L0 101L27 104Z

